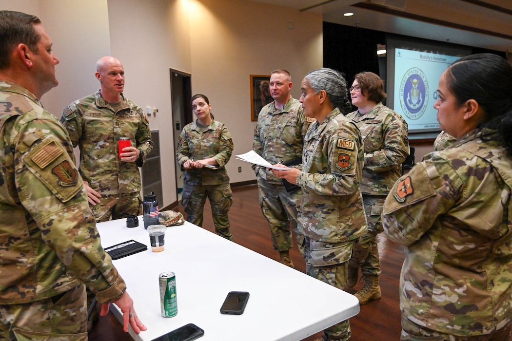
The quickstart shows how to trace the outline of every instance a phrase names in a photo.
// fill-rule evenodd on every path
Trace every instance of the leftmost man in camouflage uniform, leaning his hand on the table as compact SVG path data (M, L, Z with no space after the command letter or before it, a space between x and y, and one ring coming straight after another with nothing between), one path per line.
M87 340L87 285L102 314L135 314L101 247L65 129L39 99L58 82L40 20L0 11L0 339ZM85 285L84 285L85 284Z

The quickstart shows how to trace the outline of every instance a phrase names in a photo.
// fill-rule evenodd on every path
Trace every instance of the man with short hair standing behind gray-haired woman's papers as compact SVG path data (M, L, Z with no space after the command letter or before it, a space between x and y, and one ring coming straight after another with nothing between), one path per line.
M265 105L254 129L252 150L271 164L291 161L302 156L304 135L314 120L306 118L301 103L290 95L292 82L286 70L270 75L270 94L274 101ZM258 181L260 206L270 226L272 244L279 251L281 263L293 267L289 249L292 247L290 223L297 245L304 254L304 237L297 231L297 209L302 190L288 192L281 179L265 167L252 165Z

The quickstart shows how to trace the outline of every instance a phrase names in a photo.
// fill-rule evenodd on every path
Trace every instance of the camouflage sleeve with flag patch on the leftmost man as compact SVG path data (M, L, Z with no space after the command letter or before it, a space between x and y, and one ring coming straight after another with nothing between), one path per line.
M34 120L19 129L15 144L19 200L44 243L71 273L97 294L99 302L112 301L126 286L101 247L73 151L63 147L68 144L67 134L56 123Z

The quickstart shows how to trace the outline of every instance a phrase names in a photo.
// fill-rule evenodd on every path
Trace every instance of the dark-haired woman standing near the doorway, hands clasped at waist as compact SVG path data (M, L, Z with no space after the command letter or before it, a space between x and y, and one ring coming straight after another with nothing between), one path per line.
M215 231L233 240L229 232L228 211L231 207L231 187L224 165L233 152L233 141L227 127L214 120L208 98L197 94L191 100L197 117L180 134L176 160L185 172L182 204L186 220L202 226L206 197L210 200Z

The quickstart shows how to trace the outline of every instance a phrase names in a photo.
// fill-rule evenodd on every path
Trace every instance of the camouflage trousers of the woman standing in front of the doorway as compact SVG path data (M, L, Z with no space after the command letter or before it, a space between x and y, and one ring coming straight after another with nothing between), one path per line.
M206 197L210 201L211 215L214 219L215 232L226 239L233 240L229 232L227 213L231 208L231 187L229 184L211 186L190 186L183 184L181 203L187 214L186 220L203 226L203 210Z

